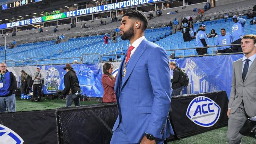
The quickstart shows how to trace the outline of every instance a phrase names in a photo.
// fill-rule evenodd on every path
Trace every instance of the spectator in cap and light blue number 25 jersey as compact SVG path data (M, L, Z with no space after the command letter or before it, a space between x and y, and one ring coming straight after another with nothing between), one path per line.
M205 24L200 24L199 29L197 30L196 36L196 45L195 47L207 47L208 45L208 37L205 34ZM207 48L197 48L198 55L207 54Z

